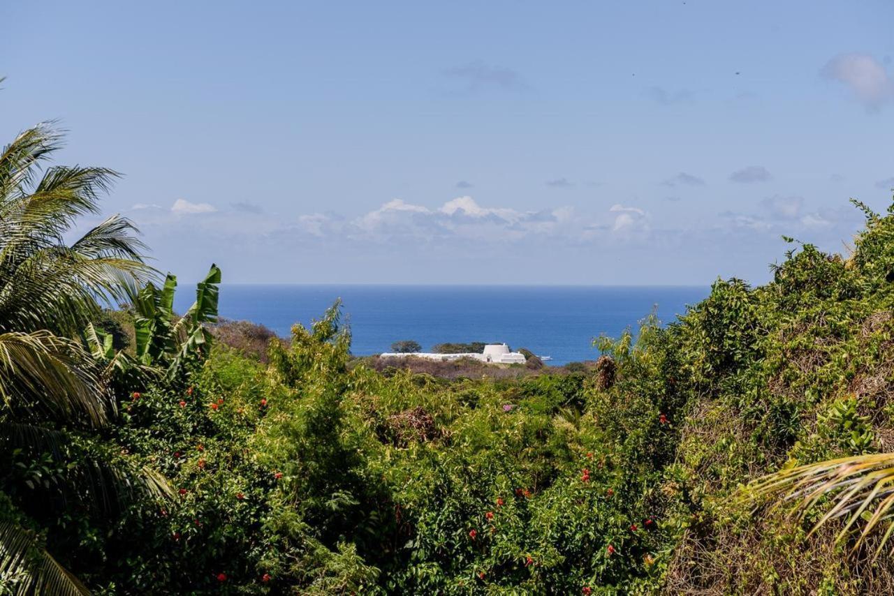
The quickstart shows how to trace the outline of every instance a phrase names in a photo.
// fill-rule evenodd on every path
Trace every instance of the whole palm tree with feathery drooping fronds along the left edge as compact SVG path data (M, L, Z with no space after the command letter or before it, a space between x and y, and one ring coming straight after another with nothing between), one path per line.
M13 450L62 458L60 446L72 436L97 439L114 416L114 398L97 362L73 338L102 303L135 295L155 275L140 256L136 229L117 215L65 241L81 216L98 213L98 198L117 174L45 167L62 142L50 124L38 124L0 154L0 459L7 461ZM42 488L55 491L55 502L73 493L97 508L114 508L133 491L164 491L160 476L108 451L80 454L66 462L57 488ZM18 592L85 592L38 547L18 508L6 505L4 493L17 480L0 470L0 584L14 577Z

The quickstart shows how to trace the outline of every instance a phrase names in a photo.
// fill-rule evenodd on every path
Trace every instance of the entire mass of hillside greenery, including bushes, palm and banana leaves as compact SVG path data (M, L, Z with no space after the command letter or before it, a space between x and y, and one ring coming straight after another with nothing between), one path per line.
M793 244L595 365L446 379L354 360L337 304L218 340L221 272L174 315L129 222L63 250L109 172L21 176L35 134L0 159L0 591L894 592L890 465L826 466L881 469L843 533L816 526L840 491L791 516L816 484L749 485L892 449L894 214L857 204L852 254Z

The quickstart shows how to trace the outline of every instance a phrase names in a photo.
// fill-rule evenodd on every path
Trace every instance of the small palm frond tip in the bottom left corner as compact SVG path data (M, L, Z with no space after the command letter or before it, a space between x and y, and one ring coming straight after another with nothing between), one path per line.
M0 522L0 575L18 579L17 594L83 596L90 593L87 586L42 548L35 533L13 522Z

